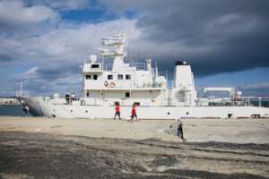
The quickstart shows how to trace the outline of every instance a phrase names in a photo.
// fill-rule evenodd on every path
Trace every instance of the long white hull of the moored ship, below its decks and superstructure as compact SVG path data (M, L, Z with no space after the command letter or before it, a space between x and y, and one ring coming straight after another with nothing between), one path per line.
M29 107L31 115L56 118L107 119L115 115L113 106L82 106L51 103L44 98L19 98L23 107ZM132 107L121 107L121 118L130 119ZM239 118L268 117L267 107L137 107L139 119L188 118Z

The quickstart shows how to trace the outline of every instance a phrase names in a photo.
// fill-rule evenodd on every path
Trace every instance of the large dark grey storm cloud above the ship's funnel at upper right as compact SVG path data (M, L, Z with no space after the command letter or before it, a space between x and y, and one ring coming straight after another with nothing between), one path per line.
M171 69L179 57L192 64L199 76L269 66L269 1L154 0L104 4L115 13L135 9L142 14L136 28L142 30L143 38L152 46L163 45L155 54L148 52L162 70ZM173 48L166 49L170 46ZM143 55L147 55L146 49Z

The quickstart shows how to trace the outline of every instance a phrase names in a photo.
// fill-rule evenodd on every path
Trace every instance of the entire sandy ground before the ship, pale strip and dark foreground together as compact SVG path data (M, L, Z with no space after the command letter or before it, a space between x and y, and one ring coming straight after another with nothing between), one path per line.
M0 178L268 178L268 119L203 120L0 117Z

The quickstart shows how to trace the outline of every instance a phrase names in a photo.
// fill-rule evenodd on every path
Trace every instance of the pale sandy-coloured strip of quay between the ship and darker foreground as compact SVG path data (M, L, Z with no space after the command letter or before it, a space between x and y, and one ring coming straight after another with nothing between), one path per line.
M269 143L269 119L182 119L184 138L190 142ZM165 133L174 120L55 119L0 117L0 132L49 132L97 138L182 140Z

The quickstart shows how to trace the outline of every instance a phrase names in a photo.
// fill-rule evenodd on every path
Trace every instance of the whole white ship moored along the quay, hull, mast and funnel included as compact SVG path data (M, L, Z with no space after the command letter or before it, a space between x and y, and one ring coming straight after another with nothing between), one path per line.
M144 64L126 64L126 35L120 33L102 39L107 48L100 50L101 59L90 55L82 64L82 97L68 104L65 97L18 97L32 115L57 118L113 118L115 103L121 107L121 117L129 119L134 103L140 119L175 119L178 117L266 117L269 108L254 107L249 98L232 88L206 88L204 91L228 91L230 98L197 98L194 75L186 62L177 62L171 87L165 76L159 75L152 60ZM113 58L104 64L103 58ZM21 92L22 94L22 92ZM261 99L261 98L258 98Z

